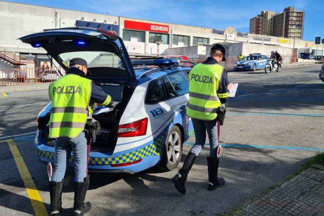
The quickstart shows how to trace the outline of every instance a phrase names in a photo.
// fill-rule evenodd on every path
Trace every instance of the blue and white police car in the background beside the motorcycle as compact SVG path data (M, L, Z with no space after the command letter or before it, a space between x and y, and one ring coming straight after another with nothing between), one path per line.
M234 64L235 71L256 71L258 69L264 69L267 64L268 57L266 55L261 55L261 53L251 53L245 56L242 61L236 62Z

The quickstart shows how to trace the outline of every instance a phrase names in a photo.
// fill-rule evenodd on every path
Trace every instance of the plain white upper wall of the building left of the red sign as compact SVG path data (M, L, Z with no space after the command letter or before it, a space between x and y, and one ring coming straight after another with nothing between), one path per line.
M55 20L55 10L57 19ZM43 29L71 27L76 20L82 17L86 21L96 19L97 22L118 23L117 16L65 10L53 7L36 6L30 4L0 1L0 45L14 52L45 53L43 49L32 48L16 40L27 34L42 31ZM35 52L33 52L35 50Z

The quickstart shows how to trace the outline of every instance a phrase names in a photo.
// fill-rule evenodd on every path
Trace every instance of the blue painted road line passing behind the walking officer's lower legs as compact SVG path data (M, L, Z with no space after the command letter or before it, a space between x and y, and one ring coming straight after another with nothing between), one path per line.
M185 142L184 145L193 145L193 142ZM230 148L259 148L259 149L284 149L284 150L298 150L298 151L323 151L324 148L307 148L307 147L297 147L297 146L271 146L271 145L244 145L244 144L224 144L220 143L222 147ZM209 146L209 143L205 145Z

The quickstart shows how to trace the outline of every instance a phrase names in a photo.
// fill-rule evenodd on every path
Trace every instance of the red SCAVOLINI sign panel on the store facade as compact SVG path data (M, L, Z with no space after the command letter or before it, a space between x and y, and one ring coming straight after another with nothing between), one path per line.
M147 22L137 22L137 21L130 21L130 20L125 20L125 28L169 33L168 25L161 25L161 24L154 24L154 23L147 23Z

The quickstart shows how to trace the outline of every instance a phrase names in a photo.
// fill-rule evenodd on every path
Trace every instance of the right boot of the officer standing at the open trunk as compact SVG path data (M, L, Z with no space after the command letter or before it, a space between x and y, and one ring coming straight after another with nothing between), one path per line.
M74 216L83 216L85 213L89 212L91 209L91 204L89 202L84 203L86 198L86 193L89 187L90 176L84 178L84 182L74 183Z

